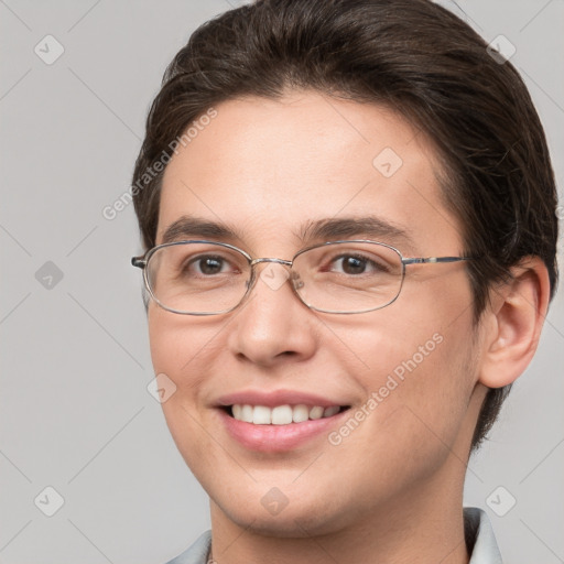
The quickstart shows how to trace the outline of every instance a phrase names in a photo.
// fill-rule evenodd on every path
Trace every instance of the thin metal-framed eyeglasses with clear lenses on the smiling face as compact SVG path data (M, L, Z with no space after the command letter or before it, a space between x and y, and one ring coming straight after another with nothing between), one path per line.
M254 267L273 262L290 268L282 282L290 280L292 290L307 307L352 314L380 310L394 302L409 264L465 260L473 259L404 258L389 245L368 240L323 242L302 249L292 260L253 259L232 245L189 240L159 245L142 257L133 257L131 263L143 269L151 297L172 313L228 313L251 292L257 281ZM260 278L269 283L267 276L263 271ZM273 272L270 278L274 279Z

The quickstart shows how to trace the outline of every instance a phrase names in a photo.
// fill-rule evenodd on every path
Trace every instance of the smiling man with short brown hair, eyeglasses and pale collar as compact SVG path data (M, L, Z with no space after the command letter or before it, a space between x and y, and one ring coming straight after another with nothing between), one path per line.
M241 7L171 63L133 185L163 410L210 498L172 562L501 562L465 469L557 238L512 66L426 0Z

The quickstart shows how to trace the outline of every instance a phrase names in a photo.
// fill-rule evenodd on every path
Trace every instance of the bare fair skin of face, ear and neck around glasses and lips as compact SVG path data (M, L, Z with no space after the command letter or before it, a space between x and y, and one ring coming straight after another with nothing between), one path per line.
M237 228L226 242L253 257L291 259L305 246L292 232L307 220L370 210L409 231L414 243L397 245L405 257L462 254L433 144L391 110L313 91L216 109L167 165L158 243L195 215ZM372 165L384 148L403 161L389 178ZM155 373L177 387L163 410L209 495L214 558L467 563L462 497L479 406L487 386L524 370L547 305L538 259L513 273L492 289L478 326L464 263L410 265L393 304L357 315L311 311L289 283L272 290L261 280L224 315L176 315L151 302ZM225 393L290 389L355 412L435 334L443 341L338 446L323 433L290 453L256 453L230 438L214 408ZM273 487L289 500L276 516L261 505Z

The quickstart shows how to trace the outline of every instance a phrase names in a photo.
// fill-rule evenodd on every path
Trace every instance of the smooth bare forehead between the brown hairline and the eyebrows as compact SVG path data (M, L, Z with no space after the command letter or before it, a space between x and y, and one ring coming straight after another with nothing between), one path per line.
M377 217L419 247L458 237L433 144L392 110L312 91L215 110L166 167L158 242L184 216L229 226L254 249L297 245L308 224L337 217Z

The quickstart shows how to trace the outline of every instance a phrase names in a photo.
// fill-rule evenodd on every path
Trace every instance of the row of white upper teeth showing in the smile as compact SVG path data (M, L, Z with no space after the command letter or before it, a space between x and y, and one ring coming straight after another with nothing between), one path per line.
M289 425L290 423L301 423L308 419L330 417L338 413L340 408L332 405L330 408L322 408L314 405L310 408L304 404L300 405L276 405L275 408L267 408L265 405L249 405L236 403L231 406L234 417L246 423L254 423L256 425Z

